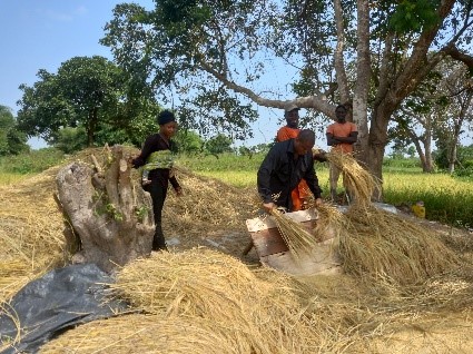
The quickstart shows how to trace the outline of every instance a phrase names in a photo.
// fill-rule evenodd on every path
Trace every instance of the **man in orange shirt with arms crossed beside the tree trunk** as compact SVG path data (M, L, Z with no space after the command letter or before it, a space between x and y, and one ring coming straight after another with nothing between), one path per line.
M335 108L337 121L327 127L327 145L332 146L332 150L341 151L343 154L353 154L353 144L355 144L358 138L358 129L355 124L346 121L347 114L348 110L343 105L338 105ZM329 183L332 200L336 200L339 174L341 169L331 164Z

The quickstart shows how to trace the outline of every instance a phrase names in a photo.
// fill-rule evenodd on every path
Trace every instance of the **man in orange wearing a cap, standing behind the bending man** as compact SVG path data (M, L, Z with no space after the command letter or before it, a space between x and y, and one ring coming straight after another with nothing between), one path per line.
M286 125L276 134L276 141L285 141L288 139L297 138L299 129L299 108L295 104L289 104L284 109L284 118L286 118ZM308 197L308 186L306 181L300 180L299 185L294 188L290 193L290 198L293 199L293 212L304 209L305 199Z

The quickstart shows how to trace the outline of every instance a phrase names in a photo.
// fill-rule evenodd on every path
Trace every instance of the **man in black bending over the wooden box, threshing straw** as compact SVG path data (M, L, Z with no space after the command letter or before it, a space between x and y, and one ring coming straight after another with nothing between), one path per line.
M293 212L290 193L303 178L314 195L316 205L322 204L322 189L314 171L314 131L303 129L296 138L276 142L270 148L257 177L258 193L267 212L278 206Z

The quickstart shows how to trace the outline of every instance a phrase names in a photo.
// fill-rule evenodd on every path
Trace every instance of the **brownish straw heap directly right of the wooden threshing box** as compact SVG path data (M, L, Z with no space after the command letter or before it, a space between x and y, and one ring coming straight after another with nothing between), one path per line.
M346 220L341 254L351 274L414 284L461 264L440 235L395 214L351 207Z

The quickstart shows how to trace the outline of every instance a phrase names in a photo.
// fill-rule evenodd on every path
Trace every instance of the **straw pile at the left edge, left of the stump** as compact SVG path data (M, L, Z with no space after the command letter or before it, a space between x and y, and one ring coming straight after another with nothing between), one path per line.
M52 197L57 171L0 188L0 303L65 264L62 215Z

